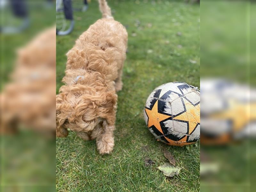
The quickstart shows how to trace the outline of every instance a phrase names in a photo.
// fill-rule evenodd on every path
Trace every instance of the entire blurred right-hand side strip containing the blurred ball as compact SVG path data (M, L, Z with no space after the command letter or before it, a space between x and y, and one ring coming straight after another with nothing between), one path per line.
M200 189L255 191L255 2L200 2Z

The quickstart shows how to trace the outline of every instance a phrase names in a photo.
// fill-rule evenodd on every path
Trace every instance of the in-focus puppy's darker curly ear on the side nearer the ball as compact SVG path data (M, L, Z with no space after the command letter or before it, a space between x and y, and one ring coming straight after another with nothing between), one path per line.
M98 115L104 118L108 125L112 126L116 121L116 92L108 92L101 106L98 108Z

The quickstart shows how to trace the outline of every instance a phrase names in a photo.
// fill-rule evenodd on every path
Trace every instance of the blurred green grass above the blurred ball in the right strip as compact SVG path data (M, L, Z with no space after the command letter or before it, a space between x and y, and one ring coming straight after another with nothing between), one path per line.
M201 1L201 77L225 77L256 85L255 57L250 57L256 39L255 5L248 1Z

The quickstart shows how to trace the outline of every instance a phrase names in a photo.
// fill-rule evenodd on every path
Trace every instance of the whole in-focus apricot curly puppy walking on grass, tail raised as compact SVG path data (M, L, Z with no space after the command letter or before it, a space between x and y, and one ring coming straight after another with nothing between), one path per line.
M99 0L103 19L96 21L68 51L65 83L56 98L56 135L68 129L84 140L96 138L100 154L114 147L116 91L122 89L127 32L115 21L105 0Z

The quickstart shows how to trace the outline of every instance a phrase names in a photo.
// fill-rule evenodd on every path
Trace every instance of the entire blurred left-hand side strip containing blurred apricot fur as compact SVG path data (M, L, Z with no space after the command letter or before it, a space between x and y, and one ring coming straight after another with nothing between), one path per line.
M55 191L55 10L0 1L0 191Z

